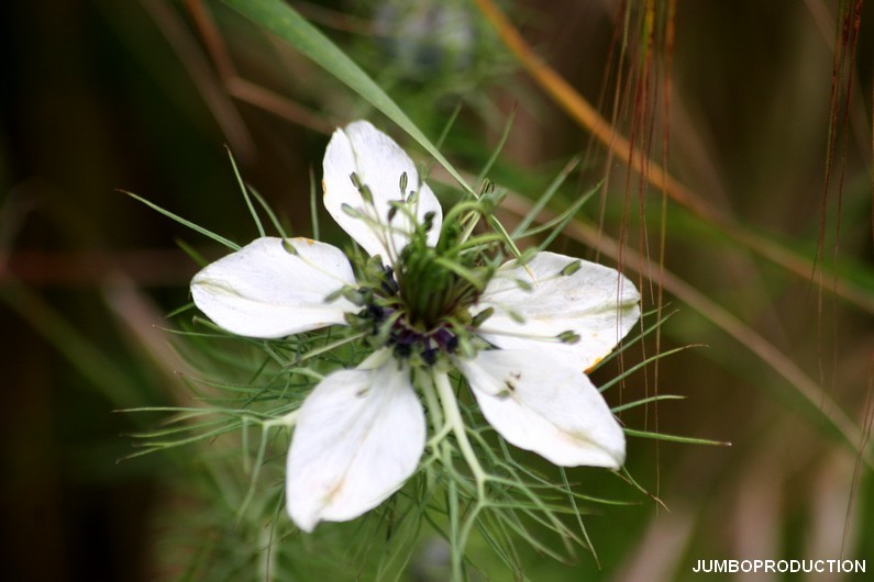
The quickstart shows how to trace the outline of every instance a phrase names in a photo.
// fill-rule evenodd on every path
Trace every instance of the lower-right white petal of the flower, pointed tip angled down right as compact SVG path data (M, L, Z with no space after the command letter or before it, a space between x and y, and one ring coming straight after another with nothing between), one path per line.
M486 350L458 368L486 419L509 443L555 465L618 469L626 437L575 366L549 351Z

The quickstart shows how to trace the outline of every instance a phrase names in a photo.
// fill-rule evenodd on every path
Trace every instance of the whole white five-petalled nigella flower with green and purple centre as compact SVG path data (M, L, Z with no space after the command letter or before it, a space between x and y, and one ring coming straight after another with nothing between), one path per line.
M444 221L412 160L364 121L334 133L323 186L329 213L369 259L353 268L325 243L264 237L191 282L197 306L237 335L366 332L373 354L328 374L296 415L286 494L300 528L357 517L416 472L428 433L419 392L439 395L474 469L453 369L512 445L564 467L624 462L622 429L584 370L638 320L630 281L554 253L499 265L488 242L467 236L462 216L477 204Z

